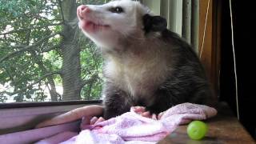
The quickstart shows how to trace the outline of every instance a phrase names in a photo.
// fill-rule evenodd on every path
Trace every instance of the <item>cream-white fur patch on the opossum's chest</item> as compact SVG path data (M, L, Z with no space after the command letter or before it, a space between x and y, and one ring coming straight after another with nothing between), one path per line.
M162 58L126 58L122 61L112 57L106 63L105 73L116 86L131 95L150 96L148 94L155 90L155 85L161 84L166 78L168 65Z

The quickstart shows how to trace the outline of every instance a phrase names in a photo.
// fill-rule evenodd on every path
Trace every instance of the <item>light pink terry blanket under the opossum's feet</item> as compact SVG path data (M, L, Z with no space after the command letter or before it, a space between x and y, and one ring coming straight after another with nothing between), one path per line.
M192 120L204 120L216 114L217 110L212 107L191 103L182 103L166 110L160 120L142 117L131 110L96 125L82 126L85 130L62 142L62 144L156 143L174 131L178 125L186 124ZM47 139L41 142L46 141ZM50 143L49 139L47 142Z

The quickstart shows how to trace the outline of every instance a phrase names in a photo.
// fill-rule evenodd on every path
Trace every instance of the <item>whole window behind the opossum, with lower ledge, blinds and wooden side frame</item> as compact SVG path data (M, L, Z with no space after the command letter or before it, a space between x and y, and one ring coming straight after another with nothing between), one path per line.
M29 130L43 119L85 106L84 102L76 101L74 105L73 102L62 101L101 98L102 58L94 43L78 29L76 8L82 3L102 4L108 1L0 1L0 108L12 107L0 110L0 134ZM213 18L217 1L140 2L155 14L165 17L168 28L186 38L196 51L200 51L202 46L210 2L205 42L207 54L202 54L202 62L210 76L218 74L218 69L214 70L214 66L218 66L214 59L218 51L215 53L213 48L217 44L214 44L214 33L211 33L218 29L214 27L216 20ZM10 102L15 103L6 106ZM32 106L39 106L32 109L17 102L41 103L32 103ZM64 106L52 106L53 103Z

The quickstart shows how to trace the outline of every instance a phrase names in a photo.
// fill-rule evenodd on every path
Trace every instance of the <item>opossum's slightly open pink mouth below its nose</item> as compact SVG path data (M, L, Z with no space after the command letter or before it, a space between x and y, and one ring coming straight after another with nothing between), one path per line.
M82 19L79 25L82 27L82 30L86 30L86 32L95 32L98 30L106 30L110 28L109 25L102 25L85 19Z

